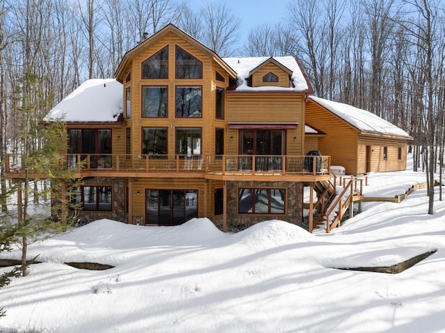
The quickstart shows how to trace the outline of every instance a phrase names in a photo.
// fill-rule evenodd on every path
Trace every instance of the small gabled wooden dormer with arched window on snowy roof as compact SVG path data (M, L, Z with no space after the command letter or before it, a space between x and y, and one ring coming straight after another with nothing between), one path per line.
M282 87L291 86L292 71L274 58L268 58L249 72L252 87Z

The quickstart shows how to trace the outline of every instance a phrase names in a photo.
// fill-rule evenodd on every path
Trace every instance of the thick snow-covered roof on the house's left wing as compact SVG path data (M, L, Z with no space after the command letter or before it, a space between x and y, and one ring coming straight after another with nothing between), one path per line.
M54 106L44 121L116 122L122 106L121 83L115 79L90 79Z

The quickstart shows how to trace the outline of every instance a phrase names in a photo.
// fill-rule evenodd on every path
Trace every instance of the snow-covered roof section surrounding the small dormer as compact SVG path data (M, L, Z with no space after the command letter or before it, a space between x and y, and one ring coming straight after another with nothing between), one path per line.
M305 91L309 90L309 85L305 75L302 73L300 65L296 58L292 56L277 56L273 57L278 63L284 67L289 68L292 71L291 81L293 86L291 88L276 87L276 86L264 86L264 87L249 87L246 79L249 77L249 73L264 63L270 57L247 57L247 58L223 58L225 63L232 67L238 74L238 87L236 90L243 91L257 91L257 90L289 90L289 91Z

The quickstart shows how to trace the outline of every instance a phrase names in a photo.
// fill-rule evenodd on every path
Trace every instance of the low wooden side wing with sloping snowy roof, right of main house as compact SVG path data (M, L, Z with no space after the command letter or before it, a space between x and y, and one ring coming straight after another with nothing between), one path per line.
M348 104L307 97L307 124L325 132L318 150L348 174L405 170L412 136L377 115Z

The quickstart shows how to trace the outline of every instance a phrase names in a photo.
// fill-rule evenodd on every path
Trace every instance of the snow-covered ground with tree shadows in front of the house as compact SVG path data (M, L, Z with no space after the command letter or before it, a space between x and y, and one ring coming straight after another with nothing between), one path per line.
M420 172L370 174L364 191L394 196L423 181ZM366 203L331 234L278 220L238 234L205 218L178 227L98 220L31 245L44 263L0 289L0 332L445 332L445 202L427 209L425 190L401 204ZM337 269L432 250L396 275Z

